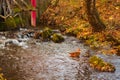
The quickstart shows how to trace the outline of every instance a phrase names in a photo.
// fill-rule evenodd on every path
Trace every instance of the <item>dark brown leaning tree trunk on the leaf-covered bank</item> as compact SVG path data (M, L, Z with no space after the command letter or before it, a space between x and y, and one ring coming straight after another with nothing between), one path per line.
M95 4L96 0L85 0L85 8L88 16L88 21L93 27L93 32L100 32L105 30L106 26L100 20Z

